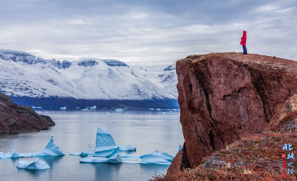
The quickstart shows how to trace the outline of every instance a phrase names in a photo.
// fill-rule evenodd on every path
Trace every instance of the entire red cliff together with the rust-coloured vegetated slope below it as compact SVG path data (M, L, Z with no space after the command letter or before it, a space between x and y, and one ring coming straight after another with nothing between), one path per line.
M176 72L185 142L155 180L282 180L282 145L297 149L297 62L211 53L178 60Z

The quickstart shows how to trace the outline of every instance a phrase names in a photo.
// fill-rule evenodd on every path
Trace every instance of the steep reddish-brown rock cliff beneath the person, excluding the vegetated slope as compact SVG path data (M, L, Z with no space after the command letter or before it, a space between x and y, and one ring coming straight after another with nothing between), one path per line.
M176 62L176 72L186 149L170 173L194 168L214 150L262 132L297 93L297 62L259 54L188 56Z

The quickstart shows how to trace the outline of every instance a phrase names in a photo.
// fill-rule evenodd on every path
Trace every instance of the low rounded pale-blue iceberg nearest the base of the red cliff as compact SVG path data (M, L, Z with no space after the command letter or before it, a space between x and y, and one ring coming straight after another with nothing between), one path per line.
M146 163L170 165L174 157L169 155L168 153L159 152L158 150L155 150L149 154L140 156L140 158L143 162Z

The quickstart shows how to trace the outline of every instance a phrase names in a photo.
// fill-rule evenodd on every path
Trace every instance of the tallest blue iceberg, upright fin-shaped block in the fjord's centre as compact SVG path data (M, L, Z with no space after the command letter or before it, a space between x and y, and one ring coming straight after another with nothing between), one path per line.
M116 145L108 131L101 128L97 129L96 147L94 157L111 157L119 152L119 146Z

